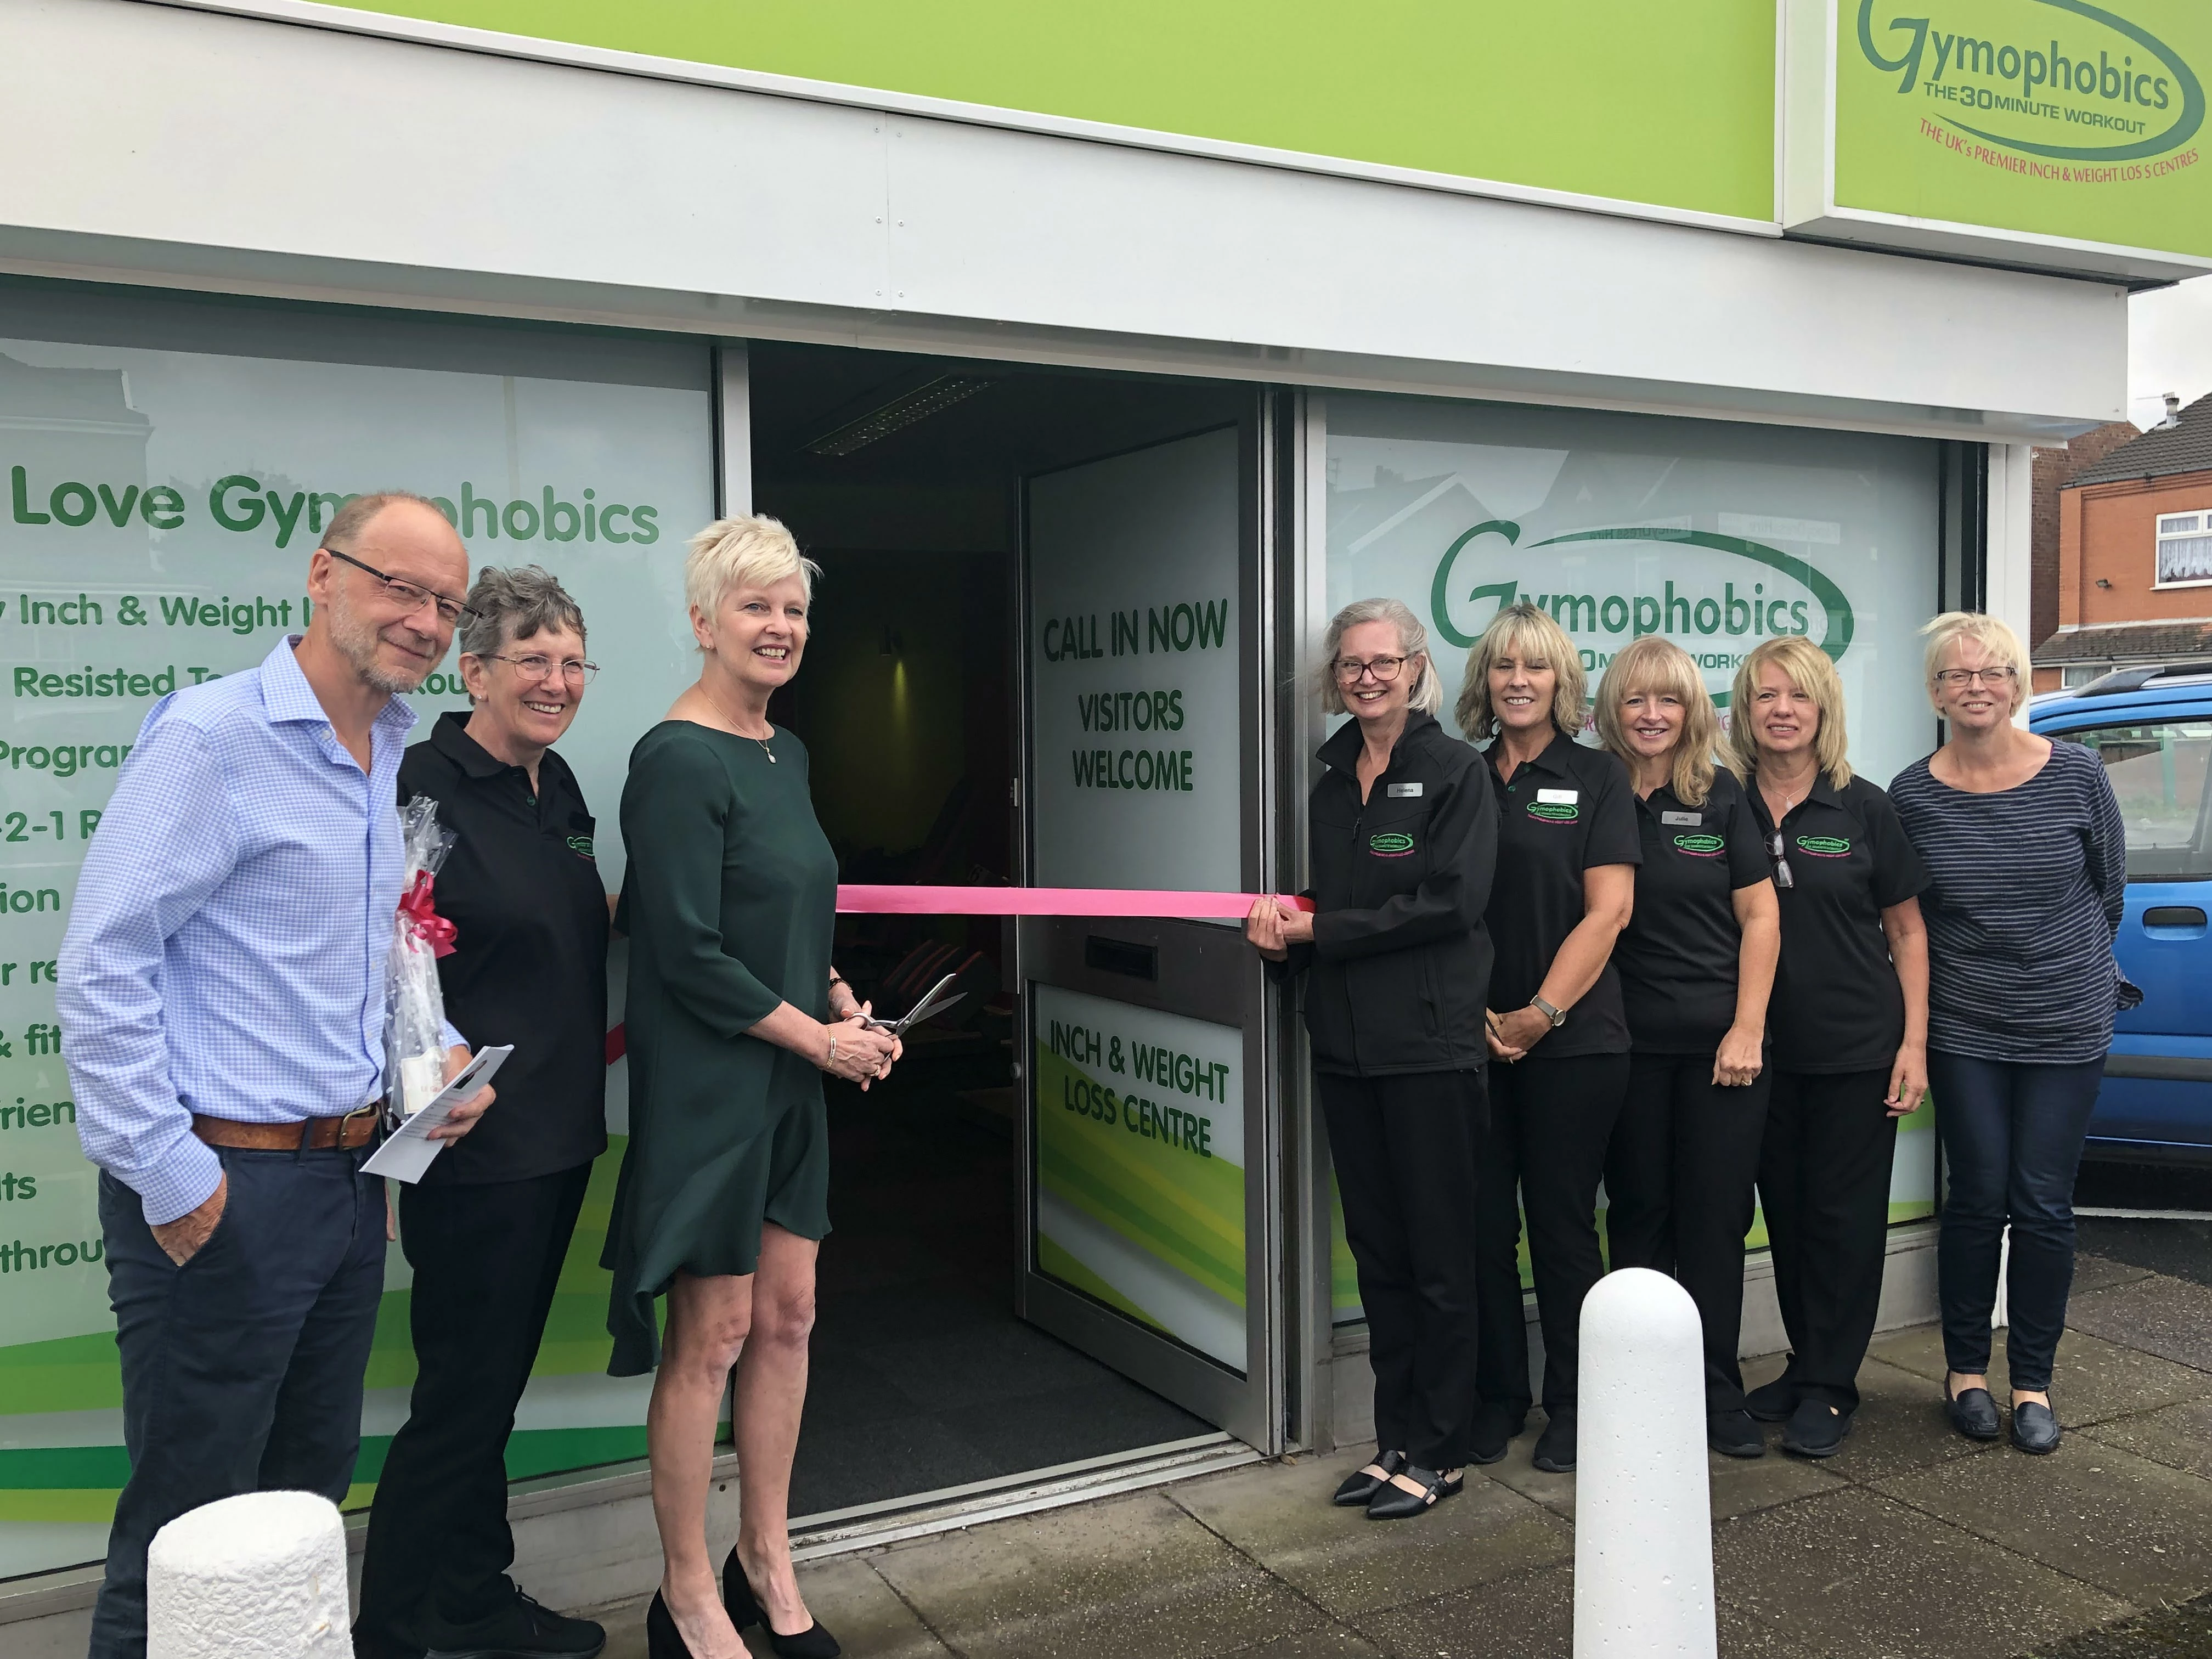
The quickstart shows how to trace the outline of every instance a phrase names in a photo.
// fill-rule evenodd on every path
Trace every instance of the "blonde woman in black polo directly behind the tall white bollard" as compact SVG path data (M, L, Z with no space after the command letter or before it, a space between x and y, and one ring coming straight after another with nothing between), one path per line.
M1632 1053L1606 1155L1606 1248L1615 1267L1657 1267L1690 1292L1705 1327L1705 1438L1759 1458L1736 1338L1767 1119L1774 883L1743 785L1714 765L1721 717L1681 646L1646 635L1606 666L1597 734L1628 768L1644 847L1613 951Z

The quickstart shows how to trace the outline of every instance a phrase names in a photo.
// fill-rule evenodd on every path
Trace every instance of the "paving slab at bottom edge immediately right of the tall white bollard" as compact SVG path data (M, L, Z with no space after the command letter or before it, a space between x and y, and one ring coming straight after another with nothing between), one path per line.
M1721 1522L1712 1548L1721 1650L1732 1659L2013 1655L2130 1613L1867 1489Z

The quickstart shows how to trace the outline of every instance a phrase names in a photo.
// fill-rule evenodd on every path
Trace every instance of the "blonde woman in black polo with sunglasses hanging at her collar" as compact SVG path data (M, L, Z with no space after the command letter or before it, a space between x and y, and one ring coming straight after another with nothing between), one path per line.
M1882 1298L1898 1119L1927 1095L1929 874L1889 796L1851 774L1843 679L1809 639L1750 650L1728 748L1783 918L1759 1199L1790 1365L1745 1407L1785 1425L1783 1451L1827 1458L1851 1431Z

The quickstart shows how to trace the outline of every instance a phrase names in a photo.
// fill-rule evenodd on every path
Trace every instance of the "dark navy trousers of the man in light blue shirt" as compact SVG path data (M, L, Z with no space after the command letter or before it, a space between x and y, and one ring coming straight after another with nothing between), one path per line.
M146 1652L146 1546L248 1491L345 1498L385 1290L385 1183L365 1152L217 1148L230 1194L181 1267L139 1194L100 1177L131 1480L115 1504L93 1659Z

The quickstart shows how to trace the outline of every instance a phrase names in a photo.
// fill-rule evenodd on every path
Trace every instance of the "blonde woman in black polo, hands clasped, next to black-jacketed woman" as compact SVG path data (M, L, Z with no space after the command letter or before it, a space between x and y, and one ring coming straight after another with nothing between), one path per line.
M1628 1088L1628 1024L1613 942L1635 902L1628 772L1575 741L1582 657L1544 611L1498 613L1467 659L1460 730L1489 739L1500 799L1489 927L1491 1135L1475 1197L1482 1338L1473 1455L1498 1462L1528 1416L1520 1217L1544 1323L1544 1433L1535 1467L1575 1467L1582 1298L1606 1270L1597 1181ZM1520 1203L1515 1206L1515 1188Z

